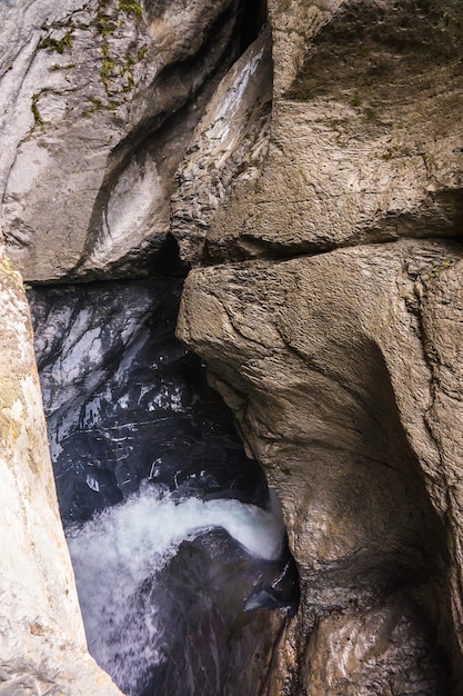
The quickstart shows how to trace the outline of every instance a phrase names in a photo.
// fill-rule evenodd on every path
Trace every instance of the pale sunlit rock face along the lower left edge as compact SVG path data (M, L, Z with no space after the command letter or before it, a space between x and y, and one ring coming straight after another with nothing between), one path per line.
M58 511L22 281L0 259L3 694L121 692L87 653Z

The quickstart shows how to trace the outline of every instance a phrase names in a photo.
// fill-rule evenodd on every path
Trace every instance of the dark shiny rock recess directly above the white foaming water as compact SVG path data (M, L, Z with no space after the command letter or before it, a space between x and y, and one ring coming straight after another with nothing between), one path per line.
M151 268L145 279L29 291L64 523L120 503L143 479L265 504L231 412L174 336L185 269L172 238Z

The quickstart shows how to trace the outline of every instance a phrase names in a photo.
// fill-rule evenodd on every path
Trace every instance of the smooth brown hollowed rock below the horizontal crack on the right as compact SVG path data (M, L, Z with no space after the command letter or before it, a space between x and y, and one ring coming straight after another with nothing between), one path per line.
M442 258L456 269L461 251L404 241L189 277L180 336L208 360L279 491L302 575L299 674L283 693L387 693L391 673L392 693L451 688L435 653L456 647L439 632L451 619L435 510L457 513L430 434L436 397L419 290ZM455 540L450 533L452 550Z

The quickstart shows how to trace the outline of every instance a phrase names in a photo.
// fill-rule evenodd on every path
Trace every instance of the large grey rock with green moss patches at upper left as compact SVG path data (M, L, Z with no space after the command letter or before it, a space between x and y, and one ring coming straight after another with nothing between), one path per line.
M36 0L0 12L10 257L30 280L140 274L165 239L174 171L252 12L240 0Z

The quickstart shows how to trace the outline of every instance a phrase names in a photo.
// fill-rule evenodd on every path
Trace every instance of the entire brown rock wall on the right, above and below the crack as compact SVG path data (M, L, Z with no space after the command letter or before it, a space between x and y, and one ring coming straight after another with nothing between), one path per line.
M203 233L178 328L279 490L300 567L269 693L457 694L461 12L269 17L269 153Z

